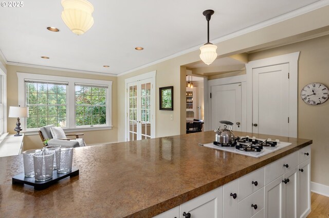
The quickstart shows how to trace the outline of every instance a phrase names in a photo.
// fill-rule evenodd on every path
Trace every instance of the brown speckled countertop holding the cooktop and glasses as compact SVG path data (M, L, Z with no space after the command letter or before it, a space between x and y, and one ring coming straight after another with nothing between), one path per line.
M198 146L213 131L74 150L80 175L36 191L12 185L23 156L0 158L0 217L152 217L312 143L312 140L234 132L291 142L262 157Z

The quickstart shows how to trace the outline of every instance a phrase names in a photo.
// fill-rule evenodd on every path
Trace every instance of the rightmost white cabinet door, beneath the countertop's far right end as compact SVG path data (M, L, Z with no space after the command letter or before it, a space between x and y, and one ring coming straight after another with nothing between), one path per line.
M310 213L310 159L299 165L298 184L299 217L304 218Z

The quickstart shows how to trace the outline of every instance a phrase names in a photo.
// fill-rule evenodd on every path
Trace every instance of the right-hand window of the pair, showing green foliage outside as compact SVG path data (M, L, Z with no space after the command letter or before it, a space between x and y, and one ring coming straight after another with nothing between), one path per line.
M76 126L106 124L107 86L76 83Z

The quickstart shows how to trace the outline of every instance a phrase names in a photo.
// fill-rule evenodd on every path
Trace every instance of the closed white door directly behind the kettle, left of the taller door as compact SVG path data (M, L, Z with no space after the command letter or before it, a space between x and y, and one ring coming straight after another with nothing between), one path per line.
M241 83L211 86L211 129L223 124L221 120L231 121L233 130L241 131Z

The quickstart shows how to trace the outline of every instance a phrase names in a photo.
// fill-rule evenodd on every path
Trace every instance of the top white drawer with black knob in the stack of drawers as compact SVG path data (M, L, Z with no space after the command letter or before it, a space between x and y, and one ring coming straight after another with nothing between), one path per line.
M241 201L264 186L264 168L248 173L239 178L239 196Z

